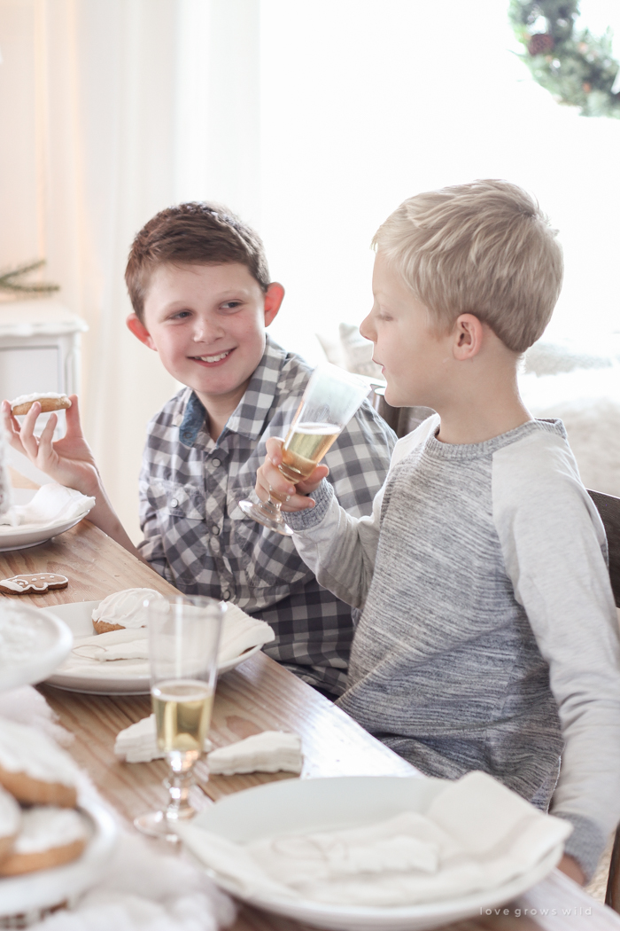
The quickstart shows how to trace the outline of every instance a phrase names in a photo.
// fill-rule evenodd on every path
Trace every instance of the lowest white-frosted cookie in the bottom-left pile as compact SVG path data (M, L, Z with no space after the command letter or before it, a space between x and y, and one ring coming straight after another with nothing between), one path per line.
M71 863L84 850L86 840L84 818L73 808L28 808L21 816L21 829L12 850L0 863L0 876L19 876Z

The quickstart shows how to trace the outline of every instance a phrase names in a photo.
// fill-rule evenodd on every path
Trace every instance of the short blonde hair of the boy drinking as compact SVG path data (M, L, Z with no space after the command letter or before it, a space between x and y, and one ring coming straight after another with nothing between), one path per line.
M405 200L373 246L442 331L474 314L516 353L542 335L561 291L557 230L516 184L475 181Z

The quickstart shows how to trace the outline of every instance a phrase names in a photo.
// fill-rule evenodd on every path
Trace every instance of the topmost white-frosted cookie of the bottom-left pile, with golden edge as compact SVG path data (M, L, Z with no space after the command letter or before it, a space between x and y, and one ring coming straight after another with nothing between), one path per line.
M26 804L73 808L79 769L41 731L0 719L0 786Z

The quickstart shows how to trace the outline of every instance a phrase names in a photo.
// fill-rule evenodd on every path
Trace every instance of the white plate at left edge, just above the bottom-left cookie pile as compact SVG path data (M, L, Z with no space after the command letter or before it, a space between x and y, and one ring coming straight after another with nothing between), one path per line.
M31 604L0 596L0 614L4 607L9 610L19 608L20 615L23 614L22 626L32 630L36 641L27 659L4 661L0 656L0 692L43 681L60 665L73 646L73 634L69 627L46 608L33 608Z

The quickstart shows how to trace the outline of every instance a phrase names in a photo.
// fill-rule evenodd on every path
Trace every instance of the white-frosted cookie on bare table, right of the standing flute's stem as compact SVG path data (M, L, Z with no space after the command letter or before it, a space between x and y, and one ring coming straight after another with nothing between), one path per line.
M282 731L264 731L209 753L209 772L214 776L300 773L302 765L301 737Z

